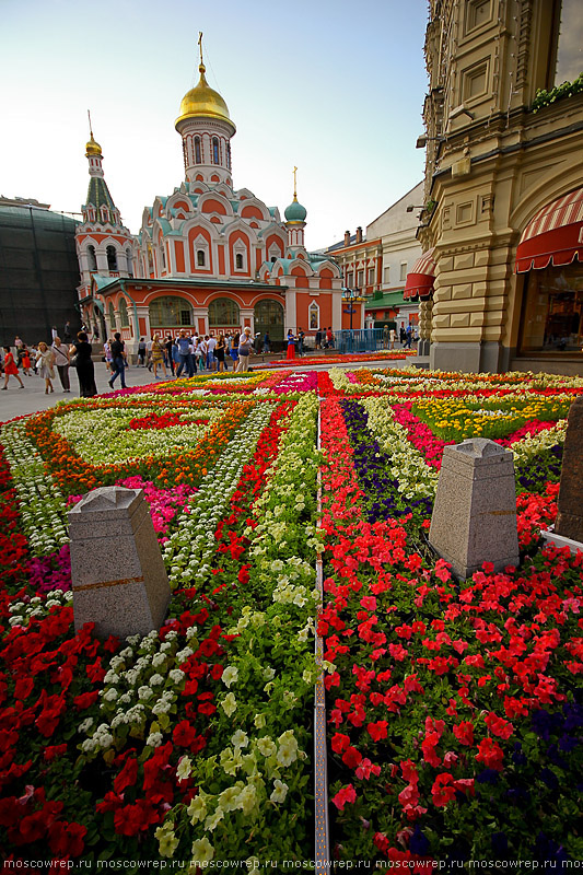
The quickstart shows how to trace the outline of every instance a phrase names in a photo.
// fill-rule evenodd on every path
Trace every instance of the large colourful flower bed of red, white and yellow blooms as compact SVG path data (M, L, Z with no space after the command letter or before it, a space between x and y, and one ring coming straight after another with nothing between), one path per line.
M318 553L335 860L581 856L583 558L538 532L582 388L288 369L4 425L7 860L312 860ZM425 528L443 446L480 423L515 454L523 561L458 585ZM173 592L126 641L75 634L69 591L67 512L110 483L144 490Z

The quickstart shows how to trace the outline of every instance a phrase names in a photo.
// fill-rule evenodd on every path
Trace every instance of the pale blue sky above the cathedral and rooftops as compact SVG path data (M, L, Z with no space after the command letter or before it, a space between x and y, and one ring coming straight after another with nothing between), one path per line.
M137 234L184 179L174 129L207 80L237 131L233 183L307 210L308 249L365 229L423 176L427 0L0 0L0 195L79 212L86 110ZM417 206L417 205L416 205Z

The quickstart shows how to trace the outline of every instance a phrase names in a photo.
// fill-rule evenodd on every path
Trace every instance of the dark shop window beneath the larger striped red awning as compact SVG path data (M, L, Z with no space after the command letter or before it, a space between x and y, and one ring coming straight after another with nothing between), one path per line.
M521 319L522 355L581 355L583 346L583 265L530 270Z

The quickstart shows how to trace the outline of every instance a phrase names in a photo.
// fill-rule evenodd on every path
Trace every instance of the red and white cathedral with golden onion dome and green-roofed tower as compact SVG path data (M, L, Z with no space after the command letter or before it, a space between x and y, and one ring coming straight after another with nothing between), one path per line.
M290 328L307 336L341 328L338 266L305 249L306 210L295 190L281 221L277 207L233 188L235 125L205 78L202 51L199 71L176 119L185 180L144 209L138 237L121 223L91 131L88 199L77 230L84 323L102 339L120 331L129 351L140 337L182 328L217 335L249 326L253 334L269 331L271 341Z

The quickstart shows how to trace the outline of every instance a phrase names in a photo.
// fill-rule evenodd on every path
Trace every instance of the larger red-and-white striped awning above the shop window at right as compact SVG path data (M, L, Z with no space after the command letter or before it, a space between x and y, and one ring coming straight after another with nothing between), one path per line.
M570 191L537 212L516 249L516 273L549 265L583 261L583 188Z

